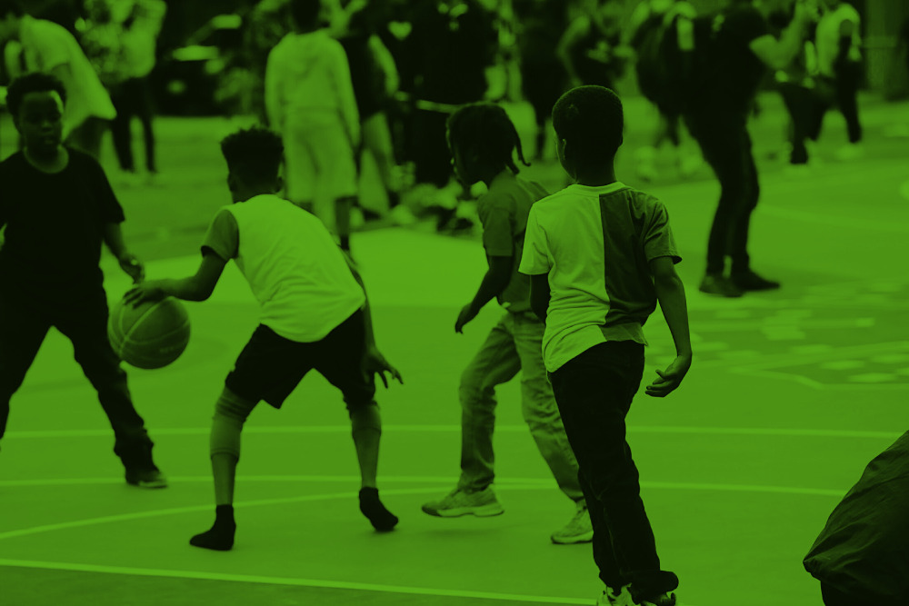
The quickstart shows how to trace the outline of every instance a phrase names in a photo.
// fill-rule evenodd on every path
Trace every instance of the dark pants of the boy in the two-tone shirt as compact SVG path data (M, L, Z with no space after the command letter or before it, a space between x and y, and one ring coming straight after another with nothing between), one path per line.
M631 582L635 599L678 587L672 572L660 571L637 467L625 442L625 415L643 375L644 345L631 341L600 343L549 373L580 468L600 579L613 588Z

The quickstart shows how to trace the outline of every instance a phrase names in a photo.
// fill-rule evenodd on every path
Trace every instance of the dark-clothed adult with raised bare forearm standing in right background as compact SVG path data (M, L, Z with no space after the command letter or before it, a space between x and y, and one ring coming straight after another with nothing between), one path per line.
M694 20L695 45L705 45L698 84L684 110L688 130L720 182L720 200L707 241L702 293L726 297L779 288L754 273L748 255L748 228L760 186L748 134L748 114L767 67L782 69L804 43L816 10L796 0L792 23L779 39L769 33L767 15L793 0L751 0L728 5ZM726 259L731 258L730 273Z

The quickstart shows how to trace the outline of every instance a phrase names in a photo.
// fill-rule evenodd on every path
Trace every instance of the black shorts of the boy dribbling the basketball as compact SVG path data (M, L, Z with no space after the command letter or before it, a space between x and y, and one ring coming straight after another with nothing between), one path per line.
M347 410L375 402L375 380L363 376L366 349L363 310L321 341L299 343L259 324L227 375L225 386L252 402L280 409L306 373L314 370L344 394Z

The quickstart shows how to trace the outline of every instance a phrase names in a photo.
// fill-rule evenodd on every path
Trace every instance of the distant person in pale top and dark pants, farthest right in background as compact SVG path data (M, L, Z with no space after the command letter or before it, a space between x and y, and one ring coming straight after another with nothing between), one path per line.
M837 155L841 160L852 160L864 154L860 145L862 125L858 120L858 88L862 83L861 17L853 5L842 0L823 1L826 10L817 23L814 40L817 68L823 84L834 91L835 104L846 119L849 144ZM814 118L818 134L829 108L830 104L823 104Z

